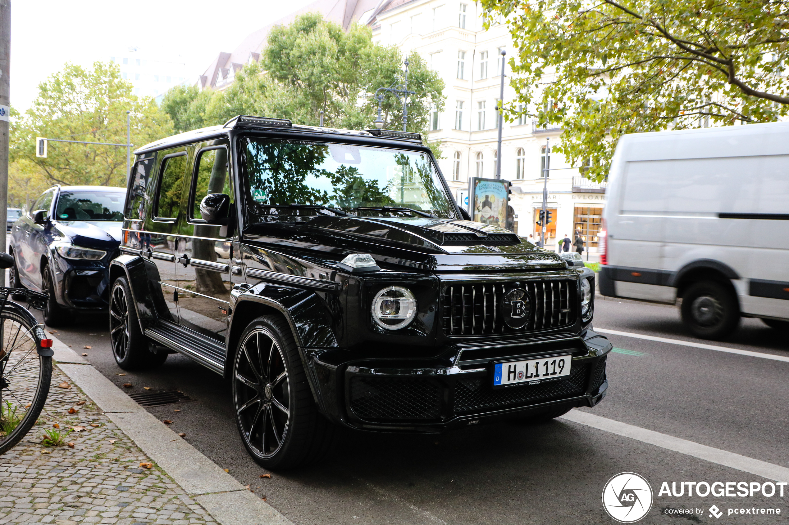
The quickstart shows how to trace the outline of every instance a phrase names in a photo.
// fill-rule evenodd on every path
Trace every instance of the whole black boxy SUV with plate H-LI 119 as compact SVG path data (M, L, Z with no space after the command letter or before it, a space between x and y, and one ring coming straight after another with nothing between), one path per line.
M604 397L594 273L469 220L420 135L237 116L135 154L114 357L224 375L265 467L315 459L335 424L434 433Z

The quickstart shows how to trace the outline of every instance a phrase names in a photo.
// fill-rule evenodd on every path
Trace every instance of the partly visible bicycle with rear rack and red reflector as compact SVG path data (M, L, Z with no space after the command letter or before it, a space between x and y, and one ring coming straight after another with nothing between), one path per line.
M0 269L13 265L0 252ZM0 287L0 454L36 424L52 380L52 339L24 306L9 296L24 296L28 308L43 310L49 296L26 288Z

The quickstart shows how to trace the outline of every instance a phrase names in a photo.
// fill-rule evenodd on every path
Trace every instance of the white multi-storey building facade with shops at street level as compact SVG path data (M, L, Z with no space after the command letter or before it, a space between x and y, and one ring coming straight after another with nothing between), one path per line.
M481 6L470 0L383 0L368 21L376 43L397 46L403 54L417 51L444 80L445 106L431 116L428 139L442 142L439 165L461 204L469 177L495 178L500 51L512 56L507 26L494 24L486 31L482 21ZM505 79L505 102L515 98ZM555 144L561 133L561 128L538 130L528 117L504 122L501 177L513 183L510 205L518 235L536 237L539 231L546 139ZM549 155L548 168L553 221L546 247L555 249L556 238L574 239L579 231L596 253L604 185L583 179L558 153Z

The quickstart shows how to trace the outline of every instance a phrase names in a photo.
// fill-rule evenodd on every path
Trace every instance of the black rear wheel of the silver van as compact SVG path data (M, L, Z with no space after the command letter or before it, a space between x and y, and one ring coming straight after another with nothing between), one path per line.
M702 281L682 296L682 323L697 338L719 340L739 326L737 298L723 284Z

